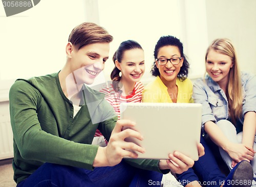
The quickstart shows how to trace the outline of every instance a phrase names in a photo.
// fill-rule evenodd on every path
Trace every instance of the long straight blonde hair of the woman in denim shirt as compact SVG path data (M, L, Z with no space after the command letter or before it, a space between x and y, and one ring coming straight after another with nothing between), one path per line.
M205 62L207 60L208 52L210 49L214 49L220 54L227 55L232 60L232 68L230 68L228 73L228 85L226 96L228 99L229 116L232 122L236 125L236 120L242 117L242 104L243 104L243 91L241 83L241 74L237 61L236 50L229 39L219 38L209 45L206 55Z

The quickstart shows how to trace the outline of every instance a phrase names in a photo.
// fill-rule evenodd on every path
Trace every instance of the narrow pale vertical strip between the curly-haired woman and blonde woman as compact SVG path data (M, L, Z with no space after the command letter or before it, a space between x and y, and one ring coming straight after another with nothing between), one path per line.
M188 77L196 79L204 74L204 54L208 46L205 0L179 0L183 28L181 41L190 64Z

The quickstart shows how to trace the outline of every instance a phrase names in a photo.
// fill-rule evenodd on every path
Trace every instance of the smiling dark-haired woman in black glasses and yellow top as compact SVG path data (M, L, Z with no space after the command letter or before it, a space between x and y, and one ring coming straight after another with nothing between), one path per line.
M193 102L193 86L187 78L189 64L180 40L162 36L155 46L154 57L151 73L156 79L145 88L143 102Z

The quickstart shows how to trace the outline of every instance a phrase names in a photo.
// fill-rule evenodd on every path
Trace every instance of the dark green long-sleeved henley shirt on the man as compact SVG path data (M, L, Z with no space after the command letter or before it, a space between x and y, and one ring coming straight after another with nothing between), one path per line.
M86 86L81 94L85 102L73 116L73 104L60 87L58 73L17 79L12 85L9 98L17 183L46 162L93 170L98 150L91 145L95 131L98 128L109 140L117 116L104 94ZM129 159L129 163L159 171L158 161Z

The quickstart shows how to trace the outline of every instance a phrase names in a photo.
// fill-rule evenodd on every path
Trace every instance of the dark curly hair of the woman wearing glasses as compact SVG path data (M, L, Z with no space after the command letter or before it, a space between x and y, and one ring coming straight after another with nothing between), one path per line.
M160 37L155 46L154 58L157 59L159 49L167 45L177 46L179 48L180 55L184 60L183 60L183 65L180 68L180 72L178 73L178 78L181 81L184 81L187 78L189 63L187 62L186 56L183 54L183 44L180 42L178 38L170 35ZM154 61L154 64L150 72L153 76L160 75L159 69L156 66L156 61Z

